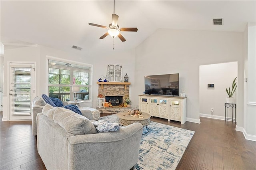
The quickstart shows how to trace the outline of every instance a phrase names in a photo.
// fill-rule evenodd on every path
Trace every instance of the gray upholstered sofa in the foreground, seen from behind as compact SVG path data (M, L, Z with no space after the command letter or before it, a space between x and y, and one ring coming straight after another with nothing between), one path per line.
M48 170L129 170L138 162L142 125L97 133L86 117L45 105L36 117L38 153Z

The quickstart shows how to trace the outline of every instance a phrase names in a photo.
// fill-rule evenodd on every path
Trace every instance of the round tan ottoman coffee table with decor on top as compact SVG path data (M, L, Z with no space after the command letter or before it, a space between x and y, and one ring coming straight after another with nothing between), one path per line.
M119 125L127 126L132 123L141 123L142 126L146 127L146 132L143 134L146 134L149 132L148 125L150 124L150 115L148 113L142 113L143 118L139 117L132 117L130 115L125 115L127 112L120 112L116 114L116 123ZM124 116L125 115L125 116ZM142 135L143 135L142 134Z

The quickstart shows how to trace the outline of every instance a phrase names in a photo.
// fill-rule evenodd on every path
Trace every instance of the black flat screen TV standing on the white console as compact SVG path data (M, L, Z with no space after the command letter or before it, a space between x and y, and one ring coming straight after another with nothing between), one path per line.
M145 94L179 95L179 73L145 76Z

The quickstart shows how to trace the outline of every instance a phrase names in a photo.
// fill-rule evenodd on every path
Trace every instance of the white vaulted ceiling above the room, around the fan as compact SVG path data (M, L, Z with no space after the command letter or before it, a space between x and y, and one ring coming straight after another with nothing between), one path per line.
M32 43L73 51L82 55L113 50L113 38L100 36L112 22L113 1L0 1L1 42ZM243 32L247 22L256 22L256 1L116 0L120 27L137 27L138 32L121 32L126 42L115 38L115 51L135 48L160 28ZM212 18L223 18L213 25Z

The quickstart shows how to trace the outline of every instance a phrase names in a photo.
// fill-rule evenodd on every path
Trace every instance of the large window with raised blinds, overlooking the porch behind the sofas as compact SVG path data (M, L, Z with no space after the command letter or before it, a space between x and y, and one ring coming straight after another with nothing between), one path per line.
M91 99L91 71L92 66L77 65L62 61L48 60L48 95L62 101ZM79 87L79 91L72 91L72 87Z

